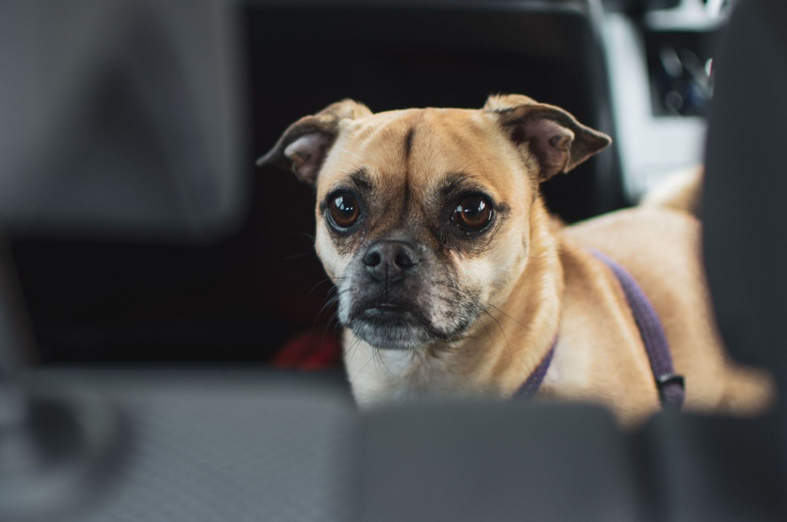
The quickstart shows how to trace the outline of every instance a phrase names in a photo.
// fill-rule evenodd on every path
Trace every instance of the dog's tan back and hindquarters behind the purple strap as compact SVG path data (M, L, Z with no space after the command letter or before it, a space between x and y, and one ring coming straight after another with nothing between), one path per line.
M701 171L682 179L682 186L672 187L678 190L657 194L644 206L563 229L563 251L597 248L641 285L663 323L675 371L685 375L685 408L753 415L774 401L774 382L767 372L733 364L726 356L705 282L700 222L688 212L694 210ZM665 197L670 193L677 197ZM563 268L569 281L571 263Z

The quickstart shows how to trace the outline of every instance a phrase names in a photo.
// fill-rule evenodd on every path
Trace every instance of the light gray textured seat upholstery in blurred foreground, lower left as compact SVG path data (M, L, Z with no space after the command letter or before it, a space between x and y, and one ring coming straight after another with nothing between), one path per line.
M333 378L46 371L37 380L64 397L87 387L116 420L105 462L73 484L76 501L41 520L349 520L357 416Z

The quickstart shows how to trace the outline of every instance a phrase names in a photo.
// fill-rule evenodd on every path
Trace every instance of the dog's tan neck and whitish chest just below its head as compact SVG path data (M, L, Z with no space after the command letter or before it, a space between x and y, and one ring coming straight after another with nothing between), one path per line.
M346 330L345 367L358 403L515 393L557 333L563 296L557 227L538 198L530 207L528 259L519 278L482 303L485 311L455 341L412 351L379 350Z

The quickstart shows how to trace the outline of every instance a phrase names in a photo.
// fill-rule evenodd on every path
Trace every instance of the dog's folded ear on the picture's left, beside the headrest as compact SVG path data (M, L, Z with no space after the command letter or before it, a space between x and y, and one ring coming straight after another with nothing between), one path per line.
M314 185L317 173L331 150L342 120L356 120L371 115L363 103L352 99L331 103L319 113L301 117L290 125L275 146L257 159L257 166L291 169L301 181Z

